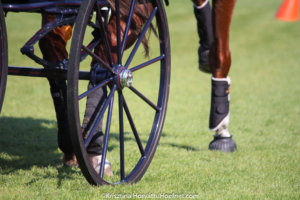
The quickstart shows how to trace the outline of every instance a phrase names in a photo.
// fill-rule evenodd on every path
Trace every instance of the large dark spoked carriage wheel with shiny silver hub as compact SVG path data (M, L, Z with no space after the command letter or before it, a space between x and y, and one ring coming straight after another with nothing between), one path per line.
M95 185L132 183L142 178L158 145L168 102L170 42L163 3L152 0L144 6L140 0L129 0L124 14L124 2L116 0L110 5L112 14L105 20L104 9L96 0L83 1L71 44L70 131L79 166L86 179ZM140 9L140 13L148 13L142 21L135 18ZM134 36L131 33L140 22ZM89 46L97 37L103 44L98 50ZM147 48L141 45L146 40L149 56L145 56ZM83 61L84 53L87 57ZM82 80L87 74L84 71L90 71L89 87ZM102 92L95 104L95 93L99 90ZM89 98L97 106L87 118ZM101 124L105 125L103 132ZM101 141L102 158L100 169L95 170L90 147L96 135L101 138L96 140ZM105 175L106 160L111 163L113 177Z

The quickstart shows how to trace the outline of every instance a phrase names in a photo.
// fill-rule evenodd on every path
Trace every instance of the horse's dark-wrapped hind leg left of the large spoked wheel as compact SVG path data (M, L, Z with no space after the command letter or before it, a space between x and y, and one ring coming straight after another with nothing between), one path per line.
M54 21L56 15L42 14L42 26ZM67 39L65 37L65 26L57 27L50 31L45 37L39 41L39 46L43 54L43 58L48 62L58 63L64 62L68 57L66 51ZM56 112L58 126L58 146L64 153L63 163L68 166L77 165L77 160L73 152L70 139L68 118L67 118L67 85L66 81L59 78L48 78L50 92Z

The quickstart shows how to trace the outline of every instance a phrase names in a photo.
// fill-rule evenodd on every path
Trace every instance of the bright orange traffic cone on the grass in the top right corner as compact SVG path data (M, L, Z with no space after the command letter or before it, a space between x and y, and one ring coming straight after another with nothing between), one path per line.
M276 19L282 21L298 21L299 0L284 0L276 13Z

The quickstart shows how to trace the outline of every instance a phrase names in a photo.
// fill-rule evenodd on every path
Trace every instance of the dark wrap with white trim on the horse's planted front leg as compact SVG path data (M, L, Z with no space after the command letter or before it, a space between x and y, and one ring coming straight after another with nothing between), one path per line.
M217 135L230 137L229 125L229 90L230 78L217 79L212 77L211 107L209 129Z

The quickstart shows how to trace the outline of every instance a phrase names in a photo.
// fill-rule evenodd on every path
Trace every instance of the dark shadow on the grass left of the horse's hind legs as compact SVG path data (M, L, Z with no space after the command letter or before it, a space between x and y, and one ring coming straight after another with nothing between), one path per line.
M56 121L1 117L0 134L0 174L34 167L54 167L58 175L50 178L57 178L58 186L64 179L71 179L74 170L61 164ZM49 178L49 174L38 176L27 184L33 184L41 178Z

